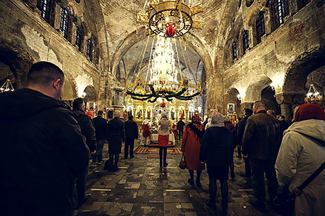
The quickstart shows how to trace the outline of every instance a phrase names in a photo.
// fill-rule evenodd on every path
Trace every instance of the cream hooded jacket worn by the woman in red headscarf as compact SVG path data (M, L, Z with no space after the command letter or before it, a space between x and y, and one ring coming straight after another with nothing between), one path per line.
M314 137L321 141L315 141ZM284 131L275 170L279 186L289 190L300 186L325 161L325 121L297 121ZM295 215L321 216L325 213L325 170L295 199Z

